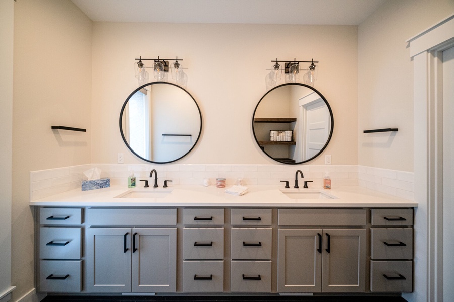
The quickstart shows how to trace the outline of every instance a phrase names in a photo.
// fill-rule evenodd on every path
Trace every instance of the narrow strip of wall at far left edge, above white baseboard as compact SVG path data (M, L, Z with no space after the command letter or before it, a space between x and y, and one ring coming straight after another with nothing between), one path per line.
M0 297L11 285L13 1L0 1Z

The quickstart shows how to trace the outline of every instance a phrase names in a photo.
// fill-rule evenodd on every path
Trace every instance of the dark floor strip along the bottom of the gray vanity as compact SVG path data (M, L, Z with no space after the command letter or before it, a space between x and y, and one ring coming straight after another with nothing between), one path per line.
M47 296L42 302L406 302L390 296Z

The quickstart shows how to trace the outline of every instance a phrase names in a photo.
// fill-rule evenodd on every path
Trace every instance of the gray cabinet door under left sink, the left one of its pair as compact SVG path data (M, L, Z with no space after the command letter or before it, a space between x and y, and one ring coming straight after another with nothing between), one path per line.
M131 291L131 229L87 229L87 291Z

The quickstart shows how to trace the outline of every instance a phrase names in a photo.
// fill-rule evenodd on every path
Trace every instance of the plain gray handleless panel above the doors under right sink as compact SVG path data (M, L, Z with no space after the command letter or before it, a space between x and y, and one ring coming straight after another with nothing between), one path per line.
M279 209L278 225L289 226L364 226L364 209Z

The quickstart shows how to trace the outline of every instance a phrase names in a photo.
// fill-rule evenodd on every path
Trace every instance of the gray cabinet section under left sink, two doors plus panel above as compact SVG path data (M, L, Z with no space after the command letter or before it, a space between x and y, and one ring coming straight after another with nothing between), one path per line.
M177 209L88 208L87 224L88 292L176 291Z

